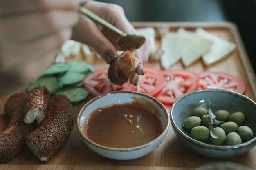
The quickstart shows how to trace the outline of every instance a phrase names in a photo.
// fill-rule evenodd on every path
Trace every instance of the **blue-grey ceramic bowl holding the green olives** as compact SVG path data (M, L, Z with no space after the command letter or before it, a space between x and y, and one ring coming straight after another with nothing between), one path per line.
M192 111L210 99L213 113L227 110L230 114L241 111L245 114L245 126L254 132L253 139L233 146L216 146L191 137L190 131L183 127L183 121L191 116ZM201 89L186 93L178 98L171 108L171 124L176 136L189 149L201 155L213 158L230 158L248 152L256 145L256 103L236 92L219 89Z

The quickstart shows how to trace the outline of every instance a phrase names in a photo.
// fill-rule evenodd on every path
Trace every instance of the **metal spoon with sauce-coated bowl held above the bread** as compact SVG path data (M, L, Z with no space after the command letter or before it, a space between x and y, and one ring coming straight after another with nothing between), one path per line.
M128 35L126 33L123 33L121 30L117 29L115 26L111 25L110 23L106 22L99 16L95 15L85 7L81 7L79 9L79 12L86 15L88 18L93 20L94 22L97 22L104 26L105 28L109 29L113 33L117 34L119 36L117 40L117 44L124 50L135 50L141 47L145 42L145 37L141 35Z

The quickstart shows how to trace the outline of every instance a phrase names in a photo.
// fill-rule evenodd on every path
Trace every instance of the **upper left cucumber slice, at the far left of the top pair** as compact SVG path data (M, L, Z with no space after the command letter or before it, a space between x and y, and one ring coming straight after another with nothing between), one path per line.
M53 64L52 66L49 66L44 72L43 72L43 76L45 75L54 75L54 74L58 74L58 73L63 73L65 71L68 71L68 69L70 68L70 64L67 63L56 63Z

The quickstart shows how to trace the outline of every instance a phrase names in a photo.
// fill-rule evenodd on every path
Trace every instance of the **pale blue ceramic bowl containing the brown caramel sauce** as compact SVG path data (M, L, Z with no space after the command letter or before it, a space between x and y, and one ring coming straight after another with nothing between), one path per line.
M157 109L159 109L159 113L161 114L161 117L159 117L159 120L161 122L161 127L162 127L162 132L159 135L159 137L141 146L136 146L132 148L112 148L112 147L107 147L107 146L97 144L94 141L90 140L86 135L84 135L82 126L85 120L88 119L90 114L95 109L103 106L109 106L112 104L132 103L134 101L132 97L136 97L136 98L143 97L144 99L152 103ZM94 152L97 152L99 155L102 155L103 157L107 157L110 159L117 159L117 160L135 159L152 152L155 148L157 148L157 146L159 146L162 143L162 141L166 137L169 125L170 125L169 114L162 103L160 103L154 97L151 97L144 93L131 92L131 91L117 91L117 92L108 93L106 95L102 95L99 97L95 97L91 99L89 102L87 102L83 106L83 108L81 108L79 115L77 117L77 128L85 144L89 148L91 148Z

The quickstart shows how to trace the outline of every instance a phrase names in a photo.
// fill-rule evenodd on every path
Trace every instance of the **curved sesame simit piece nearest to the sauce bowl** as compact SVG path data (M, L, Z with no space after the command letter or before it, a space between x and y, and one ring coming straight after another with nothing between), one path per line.
M74 111L65 95L49 101L48 114L40 126L27 135L27 146L41 161L54 156L67 142L74 125Z

